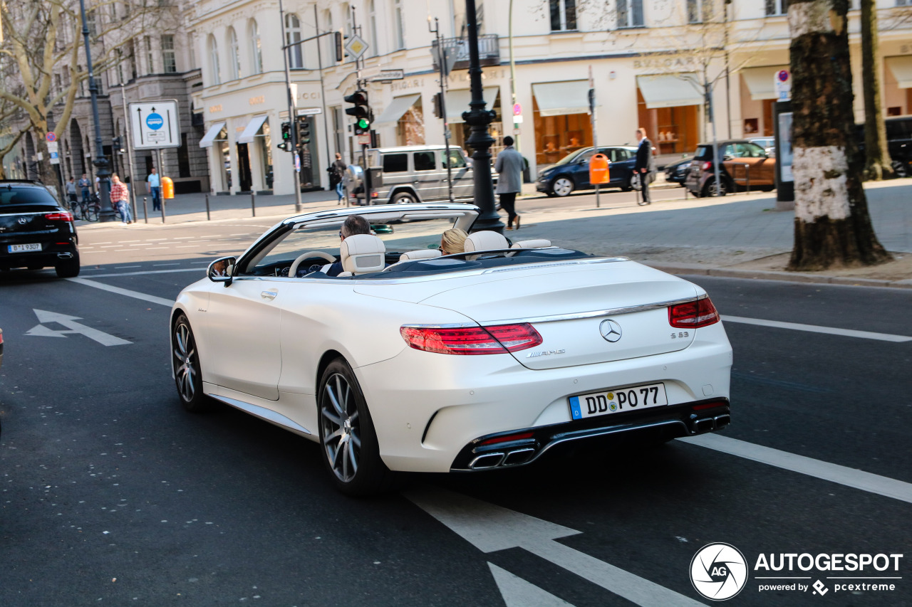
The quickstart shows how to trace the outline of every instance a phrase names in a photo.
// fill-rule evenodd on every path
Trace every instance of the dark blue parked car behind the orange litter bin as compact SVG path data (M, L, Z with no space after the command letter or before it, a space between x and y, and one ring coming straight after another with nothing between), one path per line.
M637 160L635 146L599 146L598 151L610 160L608 177L610 182L603 187L620 188L624 191L633 189L630 183L633 178L633 165ZM593 190L596 186L589 183L589 159L595 148L577 149L567 154L550 167L538 173L535 190L544 191L548 196L569 196L574 190Z

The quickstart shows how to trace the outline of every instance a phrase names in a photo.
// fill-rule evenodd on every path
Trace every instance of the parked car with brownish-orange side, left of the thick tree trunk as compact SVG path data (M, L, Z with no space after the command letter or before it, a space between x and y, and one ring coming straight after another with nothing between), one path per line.
M776 159L770 158L766 150L747 139L725 139L719 141L720 195L747 188L773 190L776 187ZM697 196L716 194L715 166L712 162L712 144L700 143L697 153L690 162L685 180L687 189Z

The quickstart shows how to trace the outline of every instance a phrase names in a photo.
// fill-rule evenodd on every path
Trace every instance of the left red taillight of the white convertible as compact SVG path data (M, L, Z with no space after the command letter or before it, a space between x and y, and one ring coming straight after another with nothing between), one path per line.
M542 343L542 336L528 323L488 327L403 326L399 334L416 350L450 355L506 354Z

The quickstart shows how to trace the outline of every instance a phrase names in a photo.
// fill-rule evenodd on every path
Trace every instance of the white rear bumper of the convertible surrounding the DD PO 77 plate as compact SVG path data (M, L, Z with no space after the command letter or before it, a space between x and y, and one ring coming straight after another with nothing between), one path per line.
M531 370L511 355L451 356L405 348L354 371L386 465L448 472L468 465L459 458L479 439L529 428L536 428L536 451L557 441L557 434L609 427L614 429L601 434L617 434L653 422L685 436L692 421L688 407L729 397L731 345L722 325L696 333L689 347L676 352L591 365ZM637 411L634 417L571 418L569 396L658 382L665 384L668 406Z

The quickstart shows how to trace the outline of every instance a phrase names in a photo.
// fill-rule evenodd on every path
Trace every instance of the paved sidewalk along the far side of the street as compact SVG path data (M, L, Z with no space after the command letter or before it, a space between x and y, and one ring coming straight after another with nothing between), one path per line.
M526 184L517 201L522 231L506 233L514 241L545 238L581 251L624 255L671 273L912 288L912 180L866 183L865 191L877 237L895 253L894 262L821 273L784 272L793 247L794 214L774 210L774 193L655 201L647 207L613 201L608 194L596 209L594 194L533 202L534 184ZM302 212L338 208L333 191L306 192L301 198ZM141 197L138 203L136 227L161 228L160 215L150 214L148 224L142 220ZM212 221L253 217L249 195L211 195L209 205ZM523 211L523 206L536 208ZM255 211L257 219L279 221L295 213L295 197L256 196ZM207 221L205 195L177 196L168 201L166 213L168 225ZM114 228L111 223L79 222L80 231ZM116 228L123 227L118 223Z

